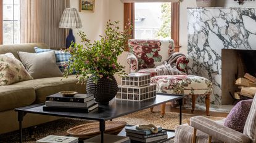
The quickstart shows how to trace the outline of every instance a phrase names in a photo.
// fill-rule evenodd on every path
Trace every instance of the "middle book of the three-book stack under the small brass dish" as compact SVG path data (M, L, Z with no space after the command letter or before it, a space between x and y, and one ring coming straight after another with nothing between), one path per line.
M60 101L46 101L45 105L49 107L84 107L87 108L94 104L94 99L87 102L60 102Z

